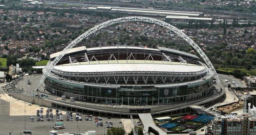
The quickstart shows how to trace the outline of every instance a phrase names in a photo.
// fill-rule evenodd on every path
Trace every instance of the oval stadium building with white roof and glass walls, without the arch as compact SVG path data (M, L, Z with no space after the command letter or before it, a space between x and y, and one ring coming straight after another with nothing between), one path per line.
M61 52L50 55L50 68ZM213 71L174 49L106 46L69 51L44 80L57 96L114 105L166 105L211 96Z

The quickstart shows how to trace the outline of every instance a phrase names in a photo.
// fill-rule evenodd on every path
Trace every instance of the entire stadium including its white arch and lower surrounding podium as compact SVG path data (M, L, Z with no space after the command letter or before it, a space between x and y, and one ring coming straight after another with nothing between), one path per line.
M127 21L154 23L172 30L186 40L200 58L160 46L87 48L80 45L73 48L97 30ZM187 35L164 21L131 16L98 24L62 51L51 54L37 91L42 90L40 86L43 84L43 89L54 96L46 99L45 105L67 111L120 116L138 113L166 115L191 111L193 104L204 104L221 97L223 92L216 90L216 83L220 86L212 63ZM68 100L57 98L62 96Z

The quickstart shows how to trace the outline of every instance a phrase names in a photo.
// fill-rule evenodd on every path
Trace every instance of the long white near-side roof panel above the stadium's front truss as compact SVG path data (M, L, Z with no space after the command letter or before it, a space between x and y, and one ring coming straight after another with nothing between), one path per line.
M123 60L126 61L126 60ZM130 60L132 61L132 60ZM200 72L205 66L193 64L158 64L158 63L102 63L57 65L54 68L64 72ZM162 61L161 61L162 62ZM85 70L86 69L86 70Z

